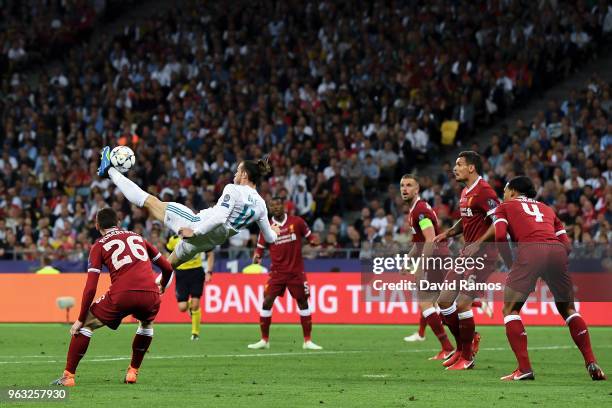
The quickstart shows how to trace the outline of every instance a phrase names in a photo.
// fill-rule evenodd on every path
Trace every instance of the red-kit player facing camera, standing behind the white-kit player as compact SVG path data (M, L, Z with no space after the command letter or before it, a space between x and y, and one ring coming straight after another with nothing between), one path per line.
M250 349L270 348L270 324L272 323L272 306L277 296L283 296L285 289L297 301L300 323L304 333L303 349L321 350L310 339L312 332L312 316L308 305L308 282L304 273L304 258L302 258L302 238L306 238L311 245L318 245L314 235L306 222L301 218L285 213L283 199L274 197L270 201L272 213L271 224L280 228L276 242L269 244L270 278L264 292L264 301L261 307L259 325L261 327L261 340L249 344ZM257 249L253 256L253 263L261 263L266 242L259 234Z

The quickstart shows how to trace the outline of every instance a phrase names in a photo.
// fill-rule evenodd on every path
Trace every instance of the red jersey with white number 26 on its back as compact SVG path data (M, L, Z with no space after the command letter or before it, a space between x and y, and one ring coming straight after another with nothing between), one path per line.
M159 257L157 248L140 235L112 228L91 247L87 272L99 273L105 265L111 275L110 293L158 292L151 261Z

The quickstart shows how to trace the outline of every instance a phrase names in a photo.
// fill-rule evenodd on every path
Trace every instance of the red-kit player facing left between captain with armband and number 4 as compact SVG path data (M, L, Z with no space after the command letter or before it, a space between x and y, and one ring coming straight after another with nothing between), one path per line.
M436 236L434 241L439 242L463 233L467 246L487 232L492 223L490 217L499 204L499 199L495 190L480 176L482 159L478 153L474 151L459 153L453 172L458 182L465 183L459 201L461 220L449 230ZM485 283L495 270L497 251L489 247L475 253L474 256L485 259L484 268L475 268L462 275L450 271L446 280L463 279L476 284ZM479 293L475 291L463 290L459 293L442 291L438 299L444 323L457 342L457 352L443 363L448 370L467 370L474 367L474 355L478 351L480 342L480 334L476 333L472 312L472 302L476 297L479 297Z

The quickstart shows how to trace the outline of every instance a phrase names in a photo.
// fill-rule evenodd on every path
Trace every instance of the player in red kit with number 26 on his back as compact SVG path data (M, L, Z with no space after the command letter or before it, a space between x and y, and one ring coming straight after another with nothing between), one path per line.
M126 383L135 383L142 359L153 340L153 320L159 311L160 293L172 276L172 266L154 246L134 232L117 228L117 214L113 209L98 211L96 228L102 238L96 241L89 253L87 283L79 318L70 329L72 338L66 368L53 385L74 386L74 374L87 351L93 331L102 326L116 330L121 320L129 315L140 321L132 342L132 361L125 376ZM162 270L159 286L151 262ZM111 286L92 303L103 265L110 272Z

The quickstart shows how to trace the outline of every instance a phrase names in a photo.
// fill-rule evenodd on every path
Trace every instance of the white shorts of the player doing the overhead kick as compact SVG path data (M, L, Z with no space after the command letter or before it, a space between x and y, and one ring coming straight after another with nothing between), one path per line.
M211 210L212 208L207 208L196 215L182 204L168 203L164 224L175 234L178 234L179 229L185 227L193 231L206 231L204 234L182 239L174 248L181 263L189 261L200 252L213 250L217 245L223 244L229 237L237 234L237 231L226 228L223 224L211 222L213 216Z

